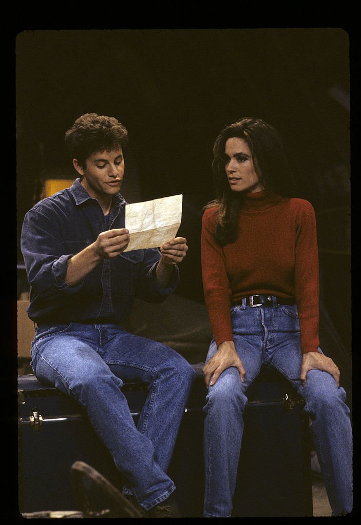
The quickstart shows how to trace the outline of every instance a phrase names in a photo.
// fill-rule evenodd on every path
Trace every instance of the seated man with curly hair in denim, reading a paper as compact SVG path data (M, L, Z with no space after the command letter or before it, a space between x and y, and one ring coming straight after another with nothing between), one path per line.
M142 516L178 517L167 468L195 373L176 351L122 322L135 297L161 302L176 289L187 240L125 252L119 191L128 133L117 119L87 113L65 140L79 178L30 209L22 229L33 370L85 407ZM121 390L135 380L149 383L137 427Z

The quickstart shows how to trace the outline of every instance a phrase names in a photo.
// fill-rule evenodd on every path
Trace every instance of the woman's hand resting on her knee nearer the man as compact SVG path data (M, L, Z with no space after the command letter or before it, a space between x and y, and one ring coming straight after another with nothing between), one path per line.
M203 367L204 381L207 387L214 385L223 370L228 369L230 366L235 366L238 369L243 383L246 371L235 350L234 342L224 341L219 345L218 351Z

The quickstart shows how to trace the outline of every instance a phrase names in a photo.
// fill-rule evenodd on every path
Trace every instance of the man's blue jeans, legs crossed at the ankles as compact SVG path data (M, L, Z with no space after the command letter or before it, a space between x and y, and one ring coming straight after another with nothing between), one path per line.
M166 471L195 377L180 354L114 324L40 325L32 366L40 382L85 407L143 508L170 496ZM121 391L126 381L149 383L137 427Z

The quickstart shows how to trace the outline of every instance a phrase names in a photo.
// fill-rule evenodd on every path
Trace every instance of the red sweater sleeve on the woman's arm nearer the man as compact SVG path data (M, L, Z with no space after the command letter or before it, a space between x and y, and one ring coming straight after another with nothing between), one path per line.
M214 240L216 207L204 212L202 219L202 279L205 304L217 346L233 341L230 297L231 288L225 268L223 249Z

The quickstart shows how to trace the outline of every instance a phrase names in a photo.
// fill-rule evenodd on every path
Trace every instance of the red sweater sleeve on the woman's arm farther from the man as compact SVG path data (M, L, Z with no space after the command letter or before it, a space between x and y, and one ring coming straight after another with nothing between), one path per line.
M295 296L300 319L302 353L317 352L319 346L319 276L316 218L312 205L304 201L296 223Z

